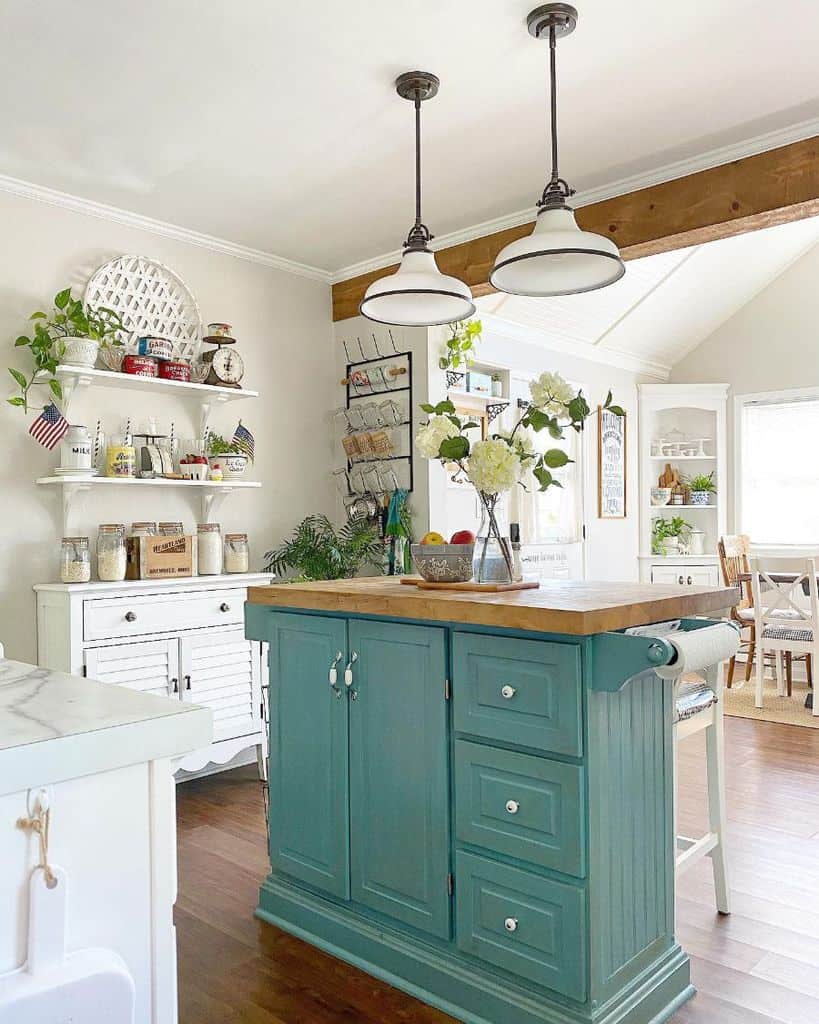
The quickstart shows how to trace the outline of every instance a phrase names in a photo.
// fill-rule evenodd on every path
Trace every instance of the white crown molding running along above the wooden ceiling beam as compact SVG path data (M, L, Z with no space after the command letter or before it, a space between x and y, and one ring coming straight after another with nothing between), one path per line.
M640 174L632 174L608 184L600 185L597 188L587 188L584 191L578 191L573 197L572 205L575 208L579 208L591 206L593 203L602 203L608 199L639 191L641 188L650 188L652 185L662 184L665 181L684 178L688 174L696 174L698 171L707 171L713 167L730 164L735 160L742 160L745 157L756 157L761 153L789 145L791 142L801 142L806 138L813 138L815 135L819 135L819 118L800 121L787 128L766 132L753 138L745 139L742 142L708 150L706 153L701 153L696 157L689 157L686 160L664 164ZM472 242L475 239L483 238L486 234L494 234L497 231L503 231L509 227L520 227L521 224L531 223L533 219L534 207L527 207L525 210L519 210L517 213L510 213L504 217L484 220L480 224L474 224L459 231L450 231L448 234L438 234L435 237L435 249L448 249L450 246L458 246L464 242ZM351 263L349 266L335 270L331 276L331 283L336 285L342 281L349 281L351 278L358 278L374 270L381 270L385 266L392 266L394 263L400 262L401 255L402 250L396 249L394 252L385 253L383 256L361 260L359 263Z

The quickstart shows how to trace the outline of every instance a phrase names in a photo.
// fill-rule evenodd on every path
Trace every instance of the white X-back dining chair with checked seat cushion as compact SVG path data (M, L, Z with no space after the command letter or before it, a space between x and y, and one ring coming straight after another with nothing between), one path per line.
M757 694L756 705L763 707L765 652L771 651L776 659L777 689L780 696L791 692L791 663L793 655L805 657L808 683L813 683L813 658L819 657L819 587L816 581L816 561L809 558L794 563L795 571L784 582L777 582L776 573L764 569L751 575L751 592L757 637ZM765 588L765 601L762 595ZM802 595L808 593L808 607ZM782 656L786 673L782 673ZM813 701L813 714L819 715L819 700Z

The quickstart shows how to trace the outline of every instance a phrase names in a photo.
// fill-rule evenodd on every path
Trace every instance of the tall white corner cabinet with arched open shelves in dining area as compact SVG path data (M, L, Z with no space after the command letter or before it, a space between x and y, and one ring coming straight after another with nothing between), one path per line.
M640 579L679 587L720 584L717 543L727 531L727 384L640 384ZM696 454L672 456L657 449L659 438L707 438ZM703 454L704 453L704 454ZM651 488L666 463L684 476L714 471L717 490L708 505L652 506ZM682 516L704 534L701 555L667 557L651 551L657 516Z

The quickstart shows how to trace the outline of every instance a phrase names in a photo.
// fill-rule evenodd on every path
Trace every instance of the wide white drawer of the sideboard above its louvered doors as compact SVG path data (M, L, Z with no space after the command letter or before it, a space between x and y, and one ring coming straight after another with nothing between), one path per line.
M83 639L114 640L244 622L247 590L145 594L83 603Z

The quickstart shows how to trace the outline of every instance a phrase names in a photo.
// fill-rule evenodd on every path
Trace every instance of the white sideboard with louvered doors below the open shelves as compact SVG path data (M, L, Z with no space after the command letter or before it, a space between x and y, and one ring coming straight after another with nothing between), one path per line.
M249 586L270 580L257 572L38 584L39 664L210 708L213 742L176 767L225 765L256 748L262 772L267 664L261 645L245 639L245 601Z

